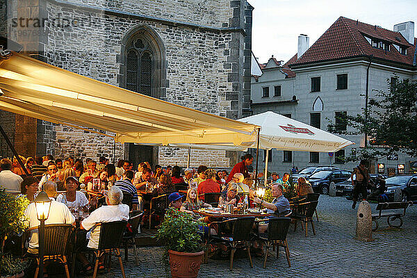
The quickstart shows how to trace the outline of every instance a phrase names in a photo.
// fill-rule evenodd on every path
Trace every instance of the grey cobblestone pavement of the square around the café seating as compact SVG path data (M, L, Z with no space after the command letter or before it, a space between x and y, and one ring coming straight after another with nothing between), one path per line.
M268 257L266 268L263 259L253 258L254 268L245 258L234 261L229 271L229 261L208 260L199 271L199 277L417 277L417 205L407 209L400 229L390 228L386 218L379 220L379 230L373 233L370 243L354 240L357 210L352 201L344 197L320 196L319 222L315 221L316 236L309 228L288 232L291 268L286 263L281 248L279 259L275 252ZM376 204L371 204L375 211ZM133 250L131 250L133 251ZM130 256L124 262L126 277L164 277L161 247L138 249L140 265ZM122 277L118 263L112 262L111 272L99 277Z

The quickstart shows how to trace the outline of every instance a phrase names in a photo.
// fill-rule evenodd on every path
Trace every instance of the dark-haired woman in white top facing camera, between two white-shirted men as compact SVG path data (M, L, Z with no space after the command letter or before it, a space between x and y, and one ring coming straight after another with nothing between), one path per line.
M67 177L65 179L65 188L67 192L62 193L56 197L56 202L64 203L68 208L78 211L82 209L83 211L88 211L88 199L85 197L85 194L76 191L76 188L79 187L79 181L75 177Z

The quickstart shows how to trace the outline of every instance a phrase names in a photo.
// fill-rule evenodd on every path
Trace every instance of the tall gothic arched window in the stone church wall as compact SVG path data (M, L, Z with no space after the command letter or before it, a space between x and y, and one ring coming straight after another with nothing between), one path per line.
M143 95L152 95L152 49L142 38L127 45L126 89Z

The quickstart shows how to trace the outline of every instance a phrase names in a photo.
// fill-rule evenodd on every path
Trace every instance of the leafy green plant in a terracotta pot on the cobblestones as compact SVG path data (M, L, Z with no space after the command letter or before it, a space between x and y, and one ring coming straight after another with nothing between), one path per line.
M175 208L169 208L156 233L156 239L165 243L164 261L168 263L172 277L197 277L204 256L203 222Z

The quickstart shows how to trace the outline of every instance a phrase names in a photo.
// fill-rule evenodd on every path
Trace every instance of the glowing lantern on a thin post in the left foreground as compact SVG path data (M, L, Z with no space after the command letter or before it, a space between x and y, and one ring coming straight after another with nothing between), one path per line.
M39 277L43 277L43 259L44 259L44 238L45 238L45 221L49 217L49 209L51 208L51 199L49 199L46 192L41 191L33 200L35 202L36 215L40 221L38 231L39 235Z

